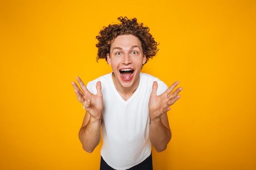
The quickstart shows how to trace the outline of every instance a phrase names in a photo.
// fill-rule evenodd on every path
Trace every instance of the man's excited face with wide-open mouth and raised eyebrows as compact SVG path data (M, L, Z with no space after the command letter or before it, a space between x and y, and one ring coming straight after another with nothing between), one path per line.
M113 81L118 88L137 88L139 73L146 62L140 40L134 35L119 35L111 43L107 54L113 70Z

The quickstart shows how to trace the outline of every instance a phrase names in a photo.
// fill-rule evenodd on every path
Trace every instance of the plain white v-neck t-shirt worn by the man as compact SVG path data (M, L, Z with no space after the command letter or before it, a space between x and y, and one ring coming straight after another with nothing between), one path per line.
M168 88L164 82L146 73L140 73L139 86L125 101L117 92L112 73L103 75L87 85L96 94L96 83L101 82L103 95L101 156L116 170L126 170L144 161L151 154L149 140L148 102L153 82L157 81L157 95Z

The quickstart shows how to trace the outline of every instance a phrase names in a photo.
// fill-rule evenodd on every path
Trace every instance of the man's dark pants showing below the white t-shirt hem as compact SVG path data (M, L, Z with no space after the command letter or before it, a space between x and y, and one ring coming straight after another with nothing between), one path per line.
M101 167L100 170L115 170L111 168L101 157ZM129 170L153 170L152 165L152 154L145 159L143 162L139 163L138 165L130 168Z

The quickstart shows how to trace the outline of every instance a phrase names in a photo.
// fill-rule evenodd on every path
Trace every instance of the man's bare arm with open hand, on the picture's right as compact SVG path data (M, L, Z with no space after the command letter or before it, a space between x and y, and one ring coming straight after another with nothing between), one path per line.
M167 111L171 110L177 99L180 98L182 88L177 88L173 93L173 89L179 82L171 85L162 95L157 96L157 82L153 83L152 93L149 100L149 138L151 144L157 152L162 152L166 149L168 142L171 140L171 130L168 123ZM170 94L171 93L171 94Z

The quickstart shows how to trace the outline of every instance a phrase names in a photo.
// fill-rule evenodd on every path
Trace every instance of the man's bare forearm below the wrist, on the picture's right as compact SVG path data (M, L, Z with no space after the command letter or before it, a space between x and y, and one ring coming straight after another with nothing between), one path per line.
M160 117L151 120L149 126L149 138L157 152L164 151L168 142L171 140L171 130L163 125Z

